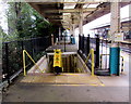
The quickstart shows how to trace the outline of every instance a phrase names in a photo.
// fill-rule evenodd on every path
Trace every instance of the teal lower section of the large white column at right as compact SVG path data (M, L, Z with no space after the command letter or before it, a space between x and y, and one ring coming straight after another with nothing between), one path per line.
M120 48L110 48L109 69L111 75L119 76Z

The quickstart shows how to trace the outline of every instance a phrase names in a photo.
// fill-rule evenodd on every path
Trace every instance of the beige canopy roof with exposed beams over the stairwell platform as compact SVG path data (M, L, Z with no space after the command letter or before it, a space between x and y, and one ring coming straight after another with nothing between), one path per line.
M70 28L72 24L79 26L80 15L83 15L83 25L110 12L110 2L99 0L29 0L27 1L50 23ZM127 2L122 2L121 6Z

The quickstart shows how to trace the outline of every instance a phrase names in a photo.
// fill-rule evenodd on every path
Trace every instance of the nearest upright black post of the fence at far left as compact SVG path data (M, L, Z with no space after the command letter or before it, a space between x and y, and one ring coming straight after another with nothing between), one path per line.
M8 83L10 83L10 72L9 72L9 46L5 43L5 62L7 62L7 78L8 78Z

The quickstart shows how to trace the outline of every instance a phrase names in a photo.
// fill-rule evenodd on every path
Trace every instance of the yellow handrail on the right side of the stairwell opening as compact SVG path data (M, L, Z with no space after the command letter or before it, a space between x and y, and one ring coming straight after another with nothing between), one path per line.
M85 60L85 63L84 63L84 67L86 66L86 63L87 61L90 60L90 56L92 57L92 62L91 62L91 65L92 65L92 76L94 76L94 73L95 73L95 69L94 69L94 49L91 49L90 50L90 54L87 55L86 60Z

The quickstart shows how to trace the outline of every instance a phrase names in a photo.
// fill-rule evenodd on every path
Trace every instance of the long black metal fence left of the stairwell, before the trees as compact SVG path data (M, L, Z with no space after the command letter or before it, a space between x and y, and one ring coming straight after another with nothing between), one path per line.
M22 52L26 50L32 57L37 61L44 51L51 44L51 38L49 36L43 38L33 38L22 41L10 41L2 43L2 81L15 77L23 69ZM26 57L26 64L29 67L33 65Z

